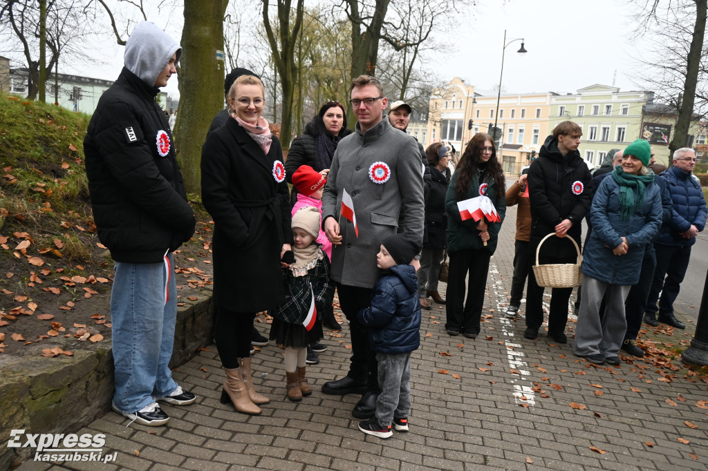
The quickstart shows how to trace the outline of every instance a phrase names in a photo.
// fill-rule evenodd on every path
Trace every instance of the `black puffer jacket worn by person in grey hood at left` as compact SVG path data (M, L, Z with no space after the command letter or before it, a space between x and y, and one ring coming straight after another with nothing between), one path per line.
M84 138L98 238L118 262L159 263L194 234L158 92L124 67L98 100Z

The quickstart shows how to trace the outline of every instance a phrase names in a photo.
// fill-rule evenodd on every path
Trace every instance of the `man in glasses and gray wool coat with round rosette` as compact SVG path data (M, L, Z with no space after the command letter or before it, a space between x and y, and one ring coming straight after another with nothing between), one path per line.
M356 132L337 146L322 198L323 227L334 245L331 278L338 283L339 303L352 338L347 376L325 383L322 392L365 392L353 410L358 419L374 415L379 394L375 352L370 349L366 327L357 319L359 310L369 306L379 278L376 254L382 241L398 231L399 219L404 221L406 237L418 249L423 242L421 156L413 137L383 119L387 105L383 95L374 77L353 79L350 103L357 118ZM340 219L344 191L353 202L358 236L353 223Z

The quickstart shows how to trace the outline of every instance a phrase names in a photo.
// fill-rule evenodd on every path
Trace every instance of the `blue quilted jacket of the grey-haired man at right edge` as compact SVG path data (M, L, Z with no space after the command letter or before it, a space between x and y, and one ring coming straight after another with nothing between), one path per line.
M701 186L678 167L671 167L660 175L666 178L668 191L673 201L673 211L670 221L663 223L658 237L654 242L664 245L693 245L696 238L686 239L681 233L688 231L691 224L698 231L703 231L706 225L706 202Z

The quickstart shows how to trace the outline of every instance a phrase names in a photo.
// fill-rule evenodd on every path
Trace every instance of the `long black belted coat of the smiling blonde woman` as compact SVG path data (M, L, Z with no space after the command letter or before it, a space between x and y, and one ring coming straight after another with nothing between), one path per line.
M278 138L265 155L233 119L202 146L202 202L215 222L217 308L252 313L275 309L285 298L280 250L292 244L292 231L285 170L280 182L275 177L278 162Z

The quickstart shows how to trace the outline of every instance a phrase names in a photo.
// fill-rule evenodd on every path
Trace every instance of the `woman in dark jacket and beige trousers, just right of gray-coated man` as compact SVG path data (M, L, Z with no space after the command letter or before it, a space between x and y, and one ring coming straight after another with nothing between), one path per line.
M421 307L430 310L428 296L438 304L445 304L445 299L438 293L440 262L447 243L447 212L445 195L450 185L450 151L440 142L434 142L426 149L426 158L430 167L430 194L426 201L426 235L423 237L421 267L418 269L418 296Z

